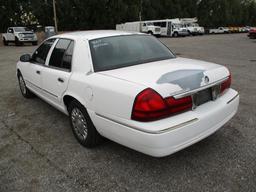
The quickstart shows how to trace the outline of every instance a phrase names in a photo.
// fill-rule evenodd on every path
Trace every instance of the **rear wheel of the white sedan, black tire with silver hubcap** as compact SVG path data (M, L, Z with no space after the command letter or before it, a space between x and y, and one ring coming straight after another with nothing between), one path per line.
M81 145L92 148L101 143L102 137L82 104L76 100L71 101L68 112L72 132Z

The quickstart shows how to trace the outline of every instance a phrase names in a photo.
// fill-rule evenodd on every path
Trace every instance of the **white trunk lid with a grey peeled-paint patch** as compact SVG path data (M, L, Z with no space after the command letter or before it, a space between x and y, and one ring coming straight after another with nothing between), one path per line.
M150 87L163 97L214 84L229 75L226 67L186 58L174 58L99 72Z

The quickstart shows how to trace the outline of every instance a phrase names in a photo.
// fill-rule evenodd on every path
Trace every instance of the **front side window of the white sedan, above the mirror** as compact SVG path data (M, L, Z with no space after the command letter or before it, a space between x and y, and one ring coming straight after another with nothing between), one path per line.
M32 55L32 62L44 65L49 50L56 39L46 40Z

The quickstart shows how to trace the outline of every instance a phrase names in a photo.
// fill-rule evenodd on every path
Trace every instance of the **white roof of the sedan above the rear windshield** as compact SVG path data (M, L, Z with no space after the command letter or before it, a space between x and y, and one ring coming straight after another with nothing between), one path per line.
M92 30L92 31L76 31L63 33L54 37L59 38L73 38L73 39L98 39L103 37L120 36L120 35L132 35L141 34L136 32L117 31L117 30Z

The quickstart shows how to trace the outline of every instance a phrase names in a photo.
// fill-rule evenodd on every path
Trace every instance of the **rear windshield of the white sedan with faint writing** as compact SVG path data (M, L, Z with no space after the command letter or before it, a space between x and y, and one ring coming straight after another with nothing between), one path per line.
M89 41L94 71L105 71L175 56L151 35L114 36Z

